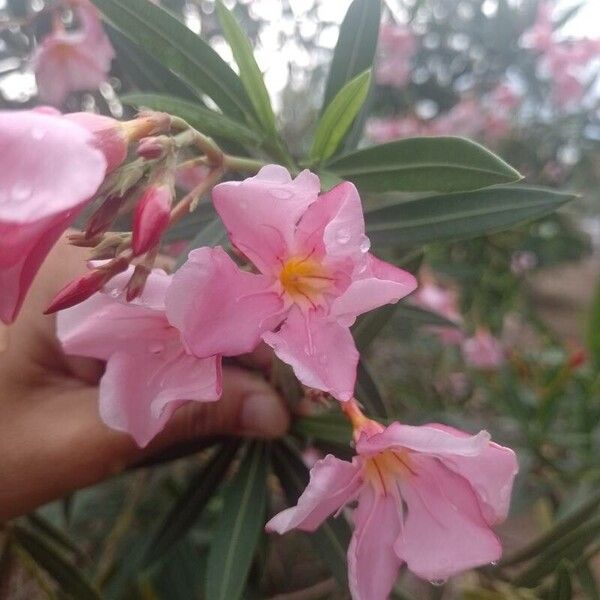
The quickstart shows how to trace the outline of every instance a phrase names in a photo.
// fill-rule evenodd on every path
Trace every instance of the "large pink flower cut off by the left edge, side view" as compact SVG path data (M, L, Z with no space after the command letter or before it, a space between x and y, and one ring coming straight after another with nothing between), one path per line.
M0 320L12 322L44 258L93 197L106 160L60 115L0 112Z

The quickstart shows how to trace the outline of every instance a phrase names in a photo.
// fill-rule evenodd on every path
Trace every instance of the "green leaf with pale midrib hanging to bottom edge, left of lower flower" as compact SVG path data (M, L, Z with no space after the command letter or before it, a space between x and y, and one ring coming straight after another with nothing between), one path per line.
M238 600L265 525L268 449L253 442L239 471L224 492L223 511L213 530L206 577L206 597Z

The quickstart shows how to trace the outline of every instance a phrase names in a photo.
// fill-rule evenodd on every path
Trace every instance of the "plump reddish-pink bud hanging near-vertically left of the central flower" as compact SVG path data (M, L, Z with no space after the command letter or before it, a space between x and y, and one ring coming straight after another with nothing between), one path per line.
M172 190L170 185L151 185L141 195L133 212L133 252L148 252L160 241L169 224Z

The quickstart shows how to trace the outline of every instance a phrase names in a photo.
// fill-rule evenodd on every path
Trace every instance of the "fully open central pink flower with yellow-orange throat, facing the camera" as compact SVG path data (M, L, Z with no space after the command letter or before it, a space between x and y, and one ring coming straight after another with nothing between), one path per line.
M351 183L319 189L313 173L292 180L276 165L216 186L229 237L259 272L241 270L222 248L195 250L173 278L167 312L197 356L243 354L262 338L305 385L348 400L358 362L349 326L416 281L369 254Z

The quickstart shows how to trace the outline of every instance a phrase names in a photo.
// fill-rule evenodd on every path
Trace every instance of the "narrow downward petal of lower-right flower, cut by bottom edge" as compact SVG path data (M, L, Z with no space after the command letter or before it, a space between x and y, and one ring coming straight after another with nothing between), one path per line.
M386 600L402 560L394 552L401 531L400 503L366 486L354 511L348 547L348 583L353 600Z

